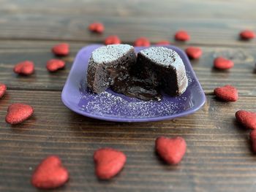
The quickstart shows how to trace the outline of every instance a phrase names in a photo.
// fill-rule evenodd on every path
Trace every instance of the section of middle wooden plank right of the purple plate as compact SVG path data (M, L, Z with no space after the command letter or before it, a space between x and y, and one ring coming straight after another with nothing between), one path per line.
M214 58L224 56L235 64L233 69L219 71L214 69ZM206 94L222 85L234 85L240 95L255 96L255 50L228 47L203 47L203 56L192 61L198 79Z

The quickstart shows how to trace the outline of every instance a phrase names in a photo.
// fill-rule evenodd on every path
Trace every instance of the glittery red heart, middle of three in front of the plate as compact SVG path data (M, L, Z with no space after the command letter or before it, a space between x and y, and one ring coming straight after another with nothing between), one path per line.
M124 167L126 155L112 148L101 148L94 153L95 173L99 179L108 180Z

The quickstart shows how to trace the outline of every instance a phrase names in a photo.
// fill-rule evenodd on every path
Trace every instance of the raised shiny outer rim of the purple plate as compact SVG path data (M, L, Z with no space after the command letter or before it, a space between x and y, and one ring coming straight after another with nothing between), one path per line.
M136 122L153 122L153 121L159 121L159 120L171 120L171 119L174 119L174 118L180 118L180 117L184 117L185 115L189 115L189 114L192 114L194 112L196 112L197 110L199 110L201 107L203 107L203 105L206 103L206 95L205 93L203 92L203 88L202 86L200 85L200 82L195 74L195 71L194 69L192 68L192 65L189 61L189 58L187 57L187 54L184 53L184 50L181 50L181 48L179 47L176 47L176 46L173 46L173 45L165 45L165 46L162 46L162 47L167 47L167 48L171 48L171 47L175 47L178 51L180 51L183 55L184 55L184 58L186 59L186 62L187 64L189 64L189 68L190 68L190 72L192 72L192 74L194 75L195 77L195 81L197 82L197 85L199 85L200 87L200 101L197 106L194 106L192 108L189 108L189 110L187 111L184 111L184 112L180 112L180 113L177 113L177 114L173 114L173 115L165 115L165 116L159 116L159 117L153 117L153 118L116 118L116 117L110 117L110 116L105 116L105 115L94 115L94 114L91 114L89 112L83 112L81 110L79 110L77 107L74 109L71 104L69 104L69 101L67 101L67 99L65 99L64 97L64 92L65 92L65 89L67 87L67 82L69 80L69 77L71 76L72 74L72 71L75 70L75 63L76 61L78 60L78 55L80 54L80 52L82 52L83 50L86 50L88 49L89 47L94 47L94 46L101 46L102 44L92 44L92 45L88 45L86 47L83 47L81 48L78 53L76 54L75 56L75 61L73 61L73 64L72 64L72 67L69 71L69 75L67 76L67 80L64 84L64 87L61 91L61 101L64 103L64 105L69 108L69 110L72 110L73 112L76 112L80 115L83 115L83 116L86 116L86 117L89 117L89 118L94 118L94 119L99 119L99 120L106 120L106 121L112 121L112 122L127 122L127 123L136 123ZM153 47L153 46L150 46L150 47ZM155 46L154 46L155 47ZM138 48L147 48L147 47L138 47Z

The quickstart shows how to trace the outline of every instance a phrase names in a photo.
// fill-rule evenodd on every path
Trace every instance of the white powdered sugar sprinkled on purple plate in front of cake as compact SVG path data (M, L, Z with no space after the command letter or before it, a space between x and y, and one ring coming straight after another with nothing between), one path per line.
M116 96L107 91L98 95L83 96L83 99L85 101L89 99L89 101L80 110L91 112L94 115L111 116L113 116L114 111L115 116L119 118L151 118L175 114L180 107L187 108L172 101L163 104L159 104L159 101L127 101L121 98L121 96ZM182 100L186 101L183 98Z

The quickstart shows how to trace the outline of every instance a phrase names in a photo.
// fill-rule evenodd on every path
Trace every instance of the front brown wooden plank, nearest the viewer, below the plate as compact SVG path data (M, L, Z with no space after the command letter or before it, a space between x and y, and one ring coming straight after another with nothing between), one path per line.
M153 123L112 123L68 110L58 91L8 91L0 100L0 186L4 191L35 191L31 172L50 154L61 157L71 179L56 191L252 191L255 155L248 130L236 123L236 110L255 110L256 97L235 103L207 96L204 107L184 118ZM4 122L7 106L25 102L34 115L18 126ZM178 166L162 164L154 139L182 136L187 154ZM92 155L115 147L127 155L124 170L110 182L94 176ZM22 189L22 190L20 190Z

